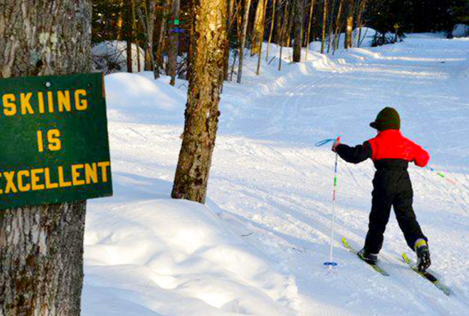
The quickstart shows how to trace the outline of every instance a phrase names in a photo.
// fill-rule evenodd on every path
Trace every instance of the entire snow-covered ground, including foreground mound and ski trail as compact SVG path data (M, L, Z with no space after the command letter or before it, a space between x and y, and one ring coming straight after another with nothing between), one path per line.
M468 315L469 40L413 34L334 57L310 51L301 64L290 55L259 77L248 59L242 85L225 84L206 206L169 198L187 83L106 77L114 197L88 202L82 315ZM338 266L322 264L334 154L314 144L374 137L368 124L385 106L450 179L409 168L431 270L451 297L398 261L414 254L393 215L380 255L391 276L341 246L364 241L371 161L339 162Z

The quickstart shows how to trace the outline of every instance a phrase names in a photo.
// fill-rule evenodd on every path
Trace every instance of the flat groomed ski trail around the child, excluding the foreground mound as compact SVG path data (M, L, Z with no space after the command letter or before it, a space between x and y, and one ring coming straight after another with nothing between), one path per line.
M251 60L243 85L225 84L207 205L279 273L294 278L298 293L279 302L292 315L467 315L469 79L461 73L469 66L468 51L469 40L415 35L330 59L311 52L309 62L283 64L281 77L275 62L255 76ZM322 265L329 261L334 154L330 143L314 144L336 135L350 145L374 137L368 124L385 106L398 109L404 135L427 148L431 166L456 183L409 167L431 271L454 291L449 298L399 261L403 251L412 259L414 254L394 215L380 253L391 276L380 276L342 247L342 236L358 248L366 235L370 161L339 162L338 266L329 271ZM157 193L168 196L183 129L179 112L181 118L168 124L110 119L117 185L128 176L146 176L160 181ZM142 200L155 197L155 187L143 187Z

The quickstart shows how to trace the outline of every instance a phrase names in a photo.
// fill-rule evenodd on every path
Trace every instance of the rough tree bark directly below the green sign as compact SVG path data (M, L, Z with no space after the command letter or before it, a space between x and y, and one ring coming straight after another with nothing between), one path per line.
M86 202L0 211L0 315L78 316Z

